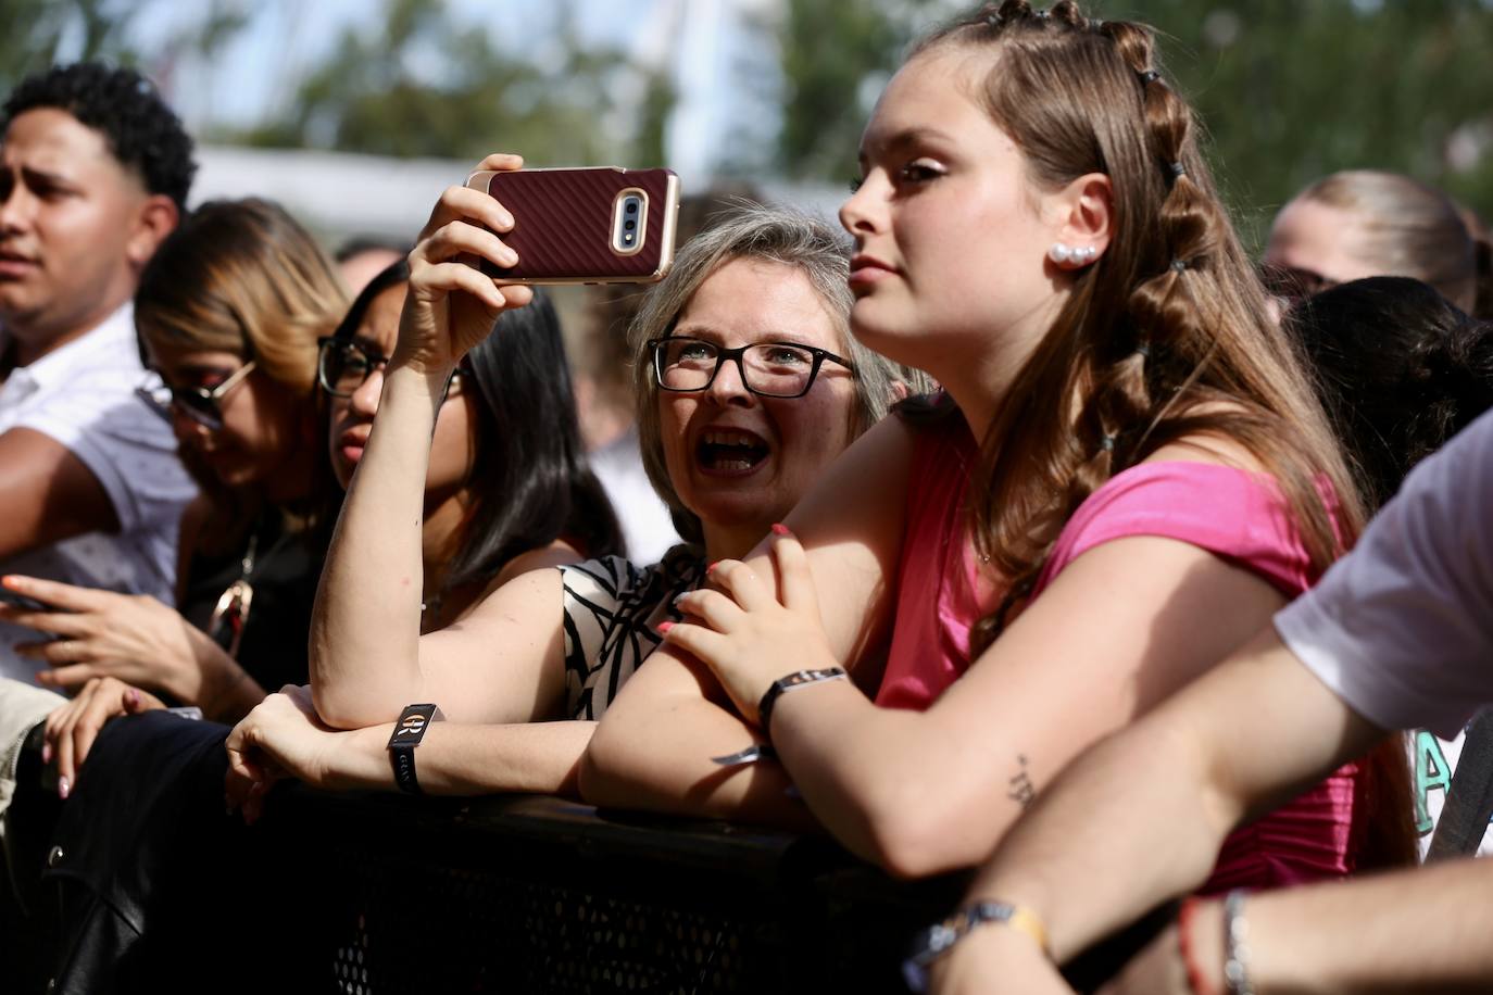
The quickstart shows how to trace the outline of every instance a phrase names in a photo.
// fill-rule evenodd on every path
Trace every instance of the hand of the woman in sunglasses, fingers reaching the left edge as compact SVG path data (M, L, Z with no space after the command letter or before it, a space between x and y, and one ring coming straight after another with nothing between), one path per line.
M0 621L57 638L21 643L15 650L51 667L37 674L48 688L81 688L94 677L164 691L178 701L202 704L208 697L208 659L216 643L175 609L149 595L75 588L37 577L7 576L4 586L52 610L0 606Z

